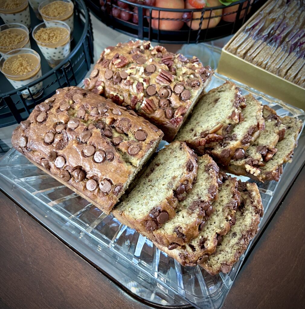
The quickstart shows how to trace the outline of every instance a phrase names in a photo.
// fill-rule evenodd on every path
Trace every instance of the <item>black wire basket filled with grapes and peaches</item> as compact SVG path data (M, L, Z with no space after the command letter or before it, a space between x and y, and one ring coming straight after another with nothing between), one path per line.
M102 23L119 32L141 40L173 44L200 43L231 35L266 2L239 0L225 6L217 0L207 0L220 5L174 9L144 5L142 0L85 1ZM164 3L190 7L188 0L164 0Z

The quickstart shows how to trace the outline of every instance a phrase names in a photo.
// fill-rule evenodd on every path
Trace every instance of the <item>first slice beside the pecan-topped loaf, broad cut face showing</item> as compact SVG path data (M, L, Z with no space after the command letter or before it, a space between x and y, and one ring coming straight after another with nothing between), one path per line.
M209 143L223 139L222 132L227 133L228 125L232 129L239 122L244 101L241 90L231 82L210 90L199 100L175 140L203 154Z

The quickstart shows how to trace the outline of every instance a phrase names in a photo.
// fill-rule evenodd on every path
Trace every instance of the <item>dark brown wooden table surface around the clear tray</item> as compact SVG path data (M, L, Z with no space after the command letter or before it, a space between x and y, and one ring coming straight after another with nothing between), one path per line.
M305 167L223 305L304 308ZM151 308L121 290L0 192L0 308Z

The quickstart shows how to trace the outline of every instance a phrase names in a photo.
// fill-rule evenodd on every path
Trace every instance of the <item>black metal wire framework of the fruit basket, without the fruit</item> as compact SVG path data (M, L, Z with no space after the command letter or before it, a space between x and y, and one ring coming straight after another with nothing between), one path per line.
M131 0L121 0L128 4L128 8L122 8L118 6L117 0L85 0L88 8L102 23L113 29L127 34L128 36L137 37L141 40L150 40L160 43L172 43L172 44L189 44L200 43L210 40L216 40L225 36L229 36L235 33L250 17L255 13L260 6L266 0L238 0L233 2L229 6L206 6L203 9L168 9L155 6L147 6L139 3L135 3ZM221 15L213 16L214 10L225 9L233 7L234 9L230 13L222 13ZM114 9L125 11L132 16L137 15L138 22L134 23L131 20L125 21L113 16ZM154 13L153 13L154 12ZM182 19L162 18L160 12L178 12L184 13ZM195 18L194 13L200 12L200 17ZM247 12L247 14L244 14ZM213 12L214 13L214 12ZM152 14L154 17L152 17ZM224 17L226 15L236 14L234 22L227 22L221 19L216 27L211 28L210 22L213 19ZM156 17L157 16L157 17ZM184 17L186 16L186 17ZM241 17L241 18L240 18ZM158 21L158 29L152 27L151 20ZM184 23L184 26L178 31L165 31L159 29L159 21L172 20L172 21L199 21L200 26L196 30L192 30ZM207 21L207 29L201 29L203 22ZM156 28L156 27L155 27Z

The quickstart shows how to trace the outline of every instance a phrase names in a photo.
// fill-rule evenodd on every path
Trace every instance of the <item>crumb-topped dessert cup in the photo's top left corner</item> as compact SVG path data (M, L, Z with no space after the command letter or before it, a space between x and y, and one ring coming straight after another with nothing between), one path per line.
M0 0L0 16L5 23L22 23L31 28L28 0Z

